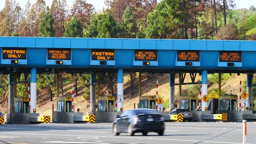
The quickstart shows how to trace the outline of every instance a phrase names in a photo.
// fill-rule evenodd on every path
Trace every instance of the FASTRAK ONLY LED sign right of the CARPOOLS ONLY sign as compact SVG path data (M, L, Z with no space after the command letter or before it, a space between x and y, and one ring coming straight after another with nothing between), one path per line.
M115 60L115 49L92 49L91 60Z

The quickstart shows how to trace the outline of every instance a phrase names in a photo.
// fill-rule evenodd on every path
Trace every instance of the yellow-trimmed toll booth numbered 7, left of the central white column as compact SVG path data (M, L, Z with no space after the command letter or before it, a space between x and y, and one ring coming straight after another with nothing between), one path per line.
M115 105L115 96L100 96L98 101L98 111L115 111Z

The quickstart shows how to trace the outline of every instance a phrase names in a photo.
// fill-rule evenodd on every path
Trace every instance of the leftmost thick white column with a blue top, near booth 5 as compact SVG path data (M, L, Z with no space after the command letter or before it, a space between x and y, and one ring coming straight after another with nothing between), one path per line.
M31 79L30 79L30 113L34 113L36 110L36 68L31 68ZM36 112L35 112L36 113Z

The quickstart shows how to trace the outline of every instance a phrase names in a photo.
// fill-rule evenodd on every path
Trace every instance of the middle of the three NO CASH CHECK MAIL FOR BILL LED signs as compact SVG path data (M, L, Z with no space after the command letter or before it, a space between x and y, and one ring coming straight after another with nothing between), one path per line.
M198 50L178 50L177 61L198 61L200 62L200 51Z

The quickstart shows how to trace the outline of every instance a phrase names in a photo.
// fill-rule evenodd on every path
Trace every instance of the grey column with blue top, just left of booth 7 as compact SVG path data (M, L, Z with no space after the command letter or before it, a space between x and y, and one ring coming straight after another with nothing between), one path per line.
M95 105L96 105L96 85L93 83L96 82L96 74L91 74L91 103L90 103L90 112L96 111ZM93 108L94 104L94 108Z

